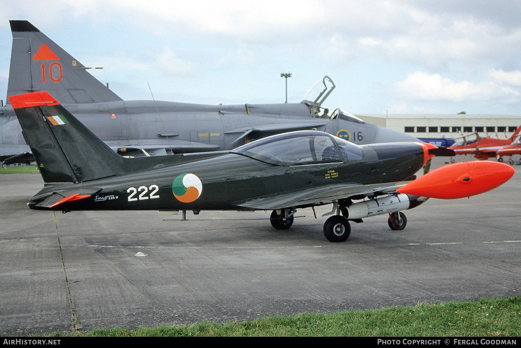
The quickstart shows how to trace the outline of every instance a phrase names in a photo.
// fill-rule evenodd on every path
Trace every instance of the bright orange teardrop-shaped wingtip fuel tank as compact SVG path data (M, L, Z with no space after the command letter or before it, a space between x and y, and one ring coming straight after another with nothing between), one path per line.
M396 192L440 199L470 197L504 184L514 172L510 165L500 162L454 163L420 176Z

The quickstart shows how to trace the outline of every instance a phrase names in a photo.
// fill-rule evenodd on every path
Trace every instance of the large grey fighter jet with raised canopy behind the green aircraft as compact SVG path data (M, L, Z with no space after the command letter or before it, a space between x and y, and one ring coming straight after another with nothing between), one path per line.
M102 139L129 157L230 150L287 131L315 129L362 145L418 139L373 124L322 103L335 88L317 82L300 103L205 105L122 100L76 58L30 22L11 20L13 46L7 97L48 92ZM33 160L10 104L0 107L0 160Z

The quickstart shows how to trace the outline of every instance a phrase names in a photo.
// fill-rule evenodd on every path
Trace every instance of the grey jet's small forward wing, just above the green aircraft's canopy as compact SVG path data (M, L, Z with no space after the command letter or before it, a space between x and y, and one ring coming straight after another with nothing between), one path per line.
M264 138L270 135L279 133L286 133L288 131L295 130L308 130L316 129L320 131L326 130L326 124L324 122L299 122L299 123L276 123L268 125L259 125L246 128L238 128L227 130L225 134L241 134L237 139L232 142L232 146L244 145L244 138L250 136L255 139Z

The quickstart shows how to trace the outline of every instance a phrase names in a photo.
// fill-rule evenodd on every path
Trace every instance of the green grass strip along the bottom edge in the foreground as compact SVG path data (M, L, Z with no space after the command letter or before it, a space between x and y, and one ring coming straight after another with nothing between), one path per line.
M418 304L328 314L273 316L253 321L202 322L190 326L55 332L79 337L519 337L521 298Z

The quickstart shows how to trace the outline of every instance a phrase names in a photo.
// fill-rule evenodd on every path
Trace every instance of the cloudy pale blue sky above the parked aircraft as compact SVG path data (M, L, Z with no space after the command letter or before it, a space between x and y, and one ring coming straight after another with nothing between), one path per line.
M351 113L521 115L519 0L0 0L121 98L300 102L322 76ZM149 86L150 85L150 89Z

